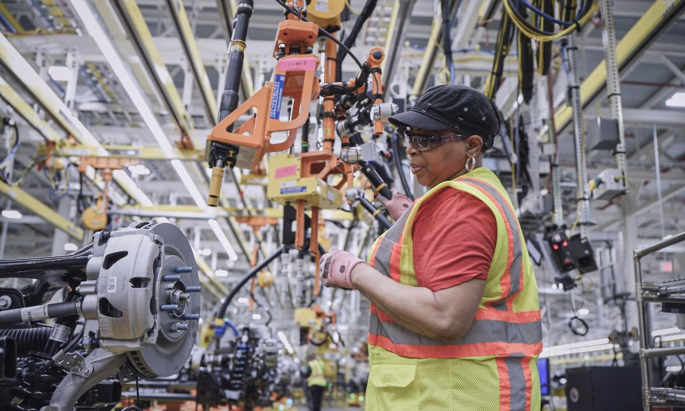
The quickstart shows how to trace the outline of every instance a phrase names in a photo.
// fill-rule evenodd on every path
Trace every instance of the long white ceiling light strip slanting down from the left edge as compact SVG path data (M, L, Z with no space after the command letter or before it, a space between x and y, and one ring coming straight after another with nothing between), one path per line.
M33 67L12 46L5 36L0 34L0 63L11 73L16 80L29 92L32 98L45 108L50 116L64 129L64 131L86 145L99 147L100 143L90 134L88 129L77 119L55 92L40 78ZM107 151L102 149L102 154ZM90 169L92 170L92 168ZM90 173L92 175L92 172ZM136 184L121 171L114 171L114 181L126 192L127 195L138 202L149 202L145 194L136 187Z

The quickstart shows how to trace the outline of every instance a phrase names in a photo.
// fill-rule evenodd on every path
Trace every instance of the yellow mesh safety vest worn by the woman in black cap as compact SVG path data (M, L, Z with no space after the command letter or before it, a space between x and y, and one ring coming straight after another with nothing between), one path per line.
M374 242L369 264L418 286L414 218L448 187L486 203L497 221L493 262L473 324L464 337L445 343L402 327L371 304L366 410L539 410L538 290L519 221L495 173L480 167L429 190Z

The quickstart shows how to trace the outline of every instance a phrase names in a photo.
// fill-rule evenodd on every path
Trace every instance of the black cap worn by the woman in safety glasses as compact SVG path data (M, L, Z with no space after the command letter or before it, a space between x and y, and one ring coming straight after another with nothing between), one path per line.
M445 84L426 90L411 110L388 119L397 127L427 130L458 130L483 138L484 148L493 148L502 116L497 105L474 88Z

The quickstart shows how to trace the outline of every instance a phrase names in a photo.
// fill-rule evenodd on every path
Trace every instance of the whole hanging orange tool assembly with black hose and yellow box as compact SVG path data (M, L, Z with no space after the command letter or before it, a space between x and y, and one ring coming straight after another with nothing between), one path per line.
M336 10L325 12L316 9L312 2L305 7L303 0L288 1L286 19L279 23L273 56L277 59L271 81L238 106L238 87L242 73L247 25L252 14L252 1L240 1L231 42L231 57L226 74L225 91L221 100L219 123L207 137L206 161L212 168L209 205L219 204L223 180L223 168L238 166L255 171L266 153L286 151L292 147L297 129L309 117L312 101L323 96L323 144L321 151L308 151L299 156L288 153L273 155L269 160L269 187L267 197L283 205L293 204L297 209L297 238L295 247L306 247L305 211L311 209L310 254L314 256L318 270L319 249L316 233L319 226L319 209L339 208L343 203L343 190L352 188L356 165L341 161L333 153L333 143L338 121L338 134L343 149L349 148L349 131L363 125L373 125L374 134L384 132L383 123L392 113L382 101L380 64L384 59L381 49L371 49L360 73L349 82L334 82L337 69L337 45L333 36L321 27L340 25L339 14L343 2ZM330 5L330 3L329 3ZM339 10L338 10L339 9ZM312 21L305 18L310 13ZM321 26L321 27L320 27ZM314 54L314 44L319 35L328 39L325 43L324 85L320 86L316 75L320 60ZM372 88L369 93L369 78ZM340 96L336 103L335 96ZM289 120L281 120L284 98L291 99ZM256 114L234 131L240 116L255 108ZM353 115L349 110L356 108ZM285 141L272 143L273 132L288 132ZM306 136L303 136L306 138ZM327 183L328 177L340 175L336 186ZM381 184L381 183L379 183ZM315 276L314 294L319 294L318 275Z

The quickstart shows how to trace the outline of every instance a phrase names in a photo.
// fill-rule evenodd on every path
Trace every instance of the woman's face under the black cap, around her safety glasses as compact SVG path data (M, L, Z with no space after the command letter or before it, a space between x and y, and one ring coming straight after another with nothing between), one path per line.
M447 136L455 134L453 130L426 130L410 127L411 132L432 136ZM419 151L413 145L407 145L407 155L412 173L416 181L422 186L433 188L442 182L466 173L466 159L476 154L476 166L481 164L480 147L482 140L479 136L470 136L464 140L447 141L431 147L426 151Z

